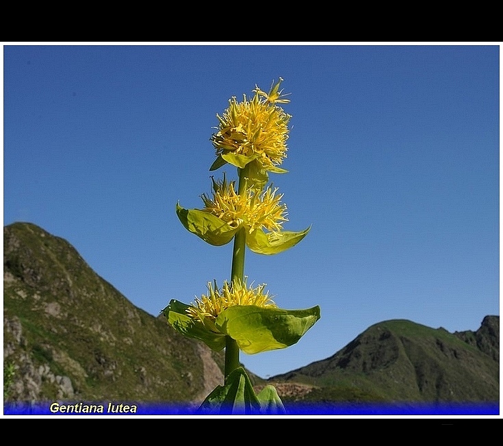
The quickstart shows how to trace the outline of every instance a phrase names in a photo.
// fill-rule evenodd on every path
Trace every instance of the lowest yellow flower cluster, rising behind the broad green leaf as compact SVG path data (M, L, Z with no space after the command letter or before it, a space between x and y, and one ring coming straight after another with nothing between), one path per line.
M233 285L224 282L222 289L218 289L216 283L214 287L208 283L208 293L196 298L194 305L189 306L187 313L193 319L204 322L205 317L216 319L222 311L233 305L255 305L261 308L277 308L276 304L270 299L269 293L263 292L266 285L249 288L240 280L234 281Z

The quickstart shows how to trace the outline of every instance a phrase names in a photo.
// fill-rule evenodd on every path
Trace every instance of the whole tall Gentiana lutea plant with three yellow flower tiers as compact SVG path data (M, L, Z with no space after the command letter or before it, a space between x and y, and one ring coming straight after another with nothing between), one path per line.
M200 407L201 413L285 413L273 386L258 395L240 366L239 354L256 354L298 342L320 318L320 307L280 309L265 291L266 285L248 285L244 276L246 247L257 254L278 254L292 248L309 232L284 231L287 208L283 194L268 185L270 173L280 168L287 153L291 118L278 104L288 103L281 81L268 93L258 87L251 99L235 98L217 115L218 131L211 137L216 159L210 170L227 163L237 168L239 182L211 177L213 192L203 194L202 209L176 212L185 228L208 244L222 246L234 240L231 280L208 283L208 293L194 304L171 300L164 315L175 330L205 342L212 350L225 348L224 386L217 386Z

